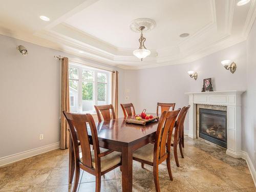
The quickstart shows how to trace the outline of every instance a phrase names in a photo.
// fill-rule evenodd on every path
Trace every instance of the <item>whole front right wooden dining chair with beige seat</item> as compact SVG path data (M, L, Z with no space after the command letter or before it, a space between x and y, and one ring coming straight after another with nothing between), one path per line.
M178 116L180 109L176 111L164 111L161 114L155 143L148 143L136 150L133 153L133 160L141 162L142 167L145 164L153 166L153 174L156 191L160 191L159 177L158 177L158 165L166 160L167 170L169 178L173 181L172 170L170 169L170 142L172 140L172 133L176 117ZM167 140L167 145L166 145Z

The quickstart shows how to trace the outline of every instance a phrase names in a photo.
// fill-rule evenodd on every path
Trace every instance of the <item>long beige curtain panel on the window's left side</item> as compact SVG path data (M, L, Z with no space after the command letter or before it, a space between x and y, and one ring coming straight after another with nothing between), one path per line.
M69 105L69 58L63 57L61 61L61 101L60 101L60 148L69 148L68 122L63 111L70 112Z

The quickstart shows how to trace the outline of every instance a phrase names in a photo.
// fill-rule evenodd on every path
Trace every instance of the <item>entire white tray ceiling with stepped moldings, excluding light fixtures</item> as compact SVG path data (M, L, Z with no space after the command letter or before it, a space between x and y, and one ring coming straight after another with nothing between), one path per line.
M6 1L0 7L0 33L124 69L196 60L246 39L256 16L256 0L45 0ZM50 22L39 19L50 17ZM156 21L144 33L152 51L142 62L132 51L140 17ZM189 33L185 38L181 33ZM79 50L84 53L79 53Z

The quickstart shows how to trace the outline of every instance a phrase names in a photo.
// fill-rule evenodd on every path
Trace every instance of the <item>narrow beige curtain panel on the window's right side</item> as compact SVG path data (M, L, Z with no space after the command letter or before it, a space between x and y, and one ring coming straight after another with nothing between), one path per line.
M118 118L118 71L113 71L112 74L112 103Z

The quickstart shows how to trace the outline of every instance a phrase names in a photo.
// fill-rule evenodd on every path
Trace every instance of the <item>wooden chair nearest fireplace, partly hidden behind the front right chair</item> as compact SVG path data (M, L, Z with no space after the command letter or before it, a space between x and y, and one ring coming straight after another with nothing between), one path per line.
M183 108L181 109L178 119L175 122L175 132L174 132L174 135L172 136L171 146L174 147L174 158L175 158L176 165L178 167L180 166L179 159L178 159L178 145L180 148L181 157L184 158L183 152L182 152L182 142L184 142L184 120L186 118L186 114L189 108L190 108L190 105L183 106Z

